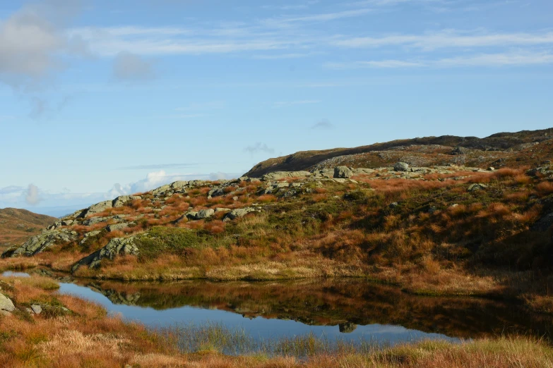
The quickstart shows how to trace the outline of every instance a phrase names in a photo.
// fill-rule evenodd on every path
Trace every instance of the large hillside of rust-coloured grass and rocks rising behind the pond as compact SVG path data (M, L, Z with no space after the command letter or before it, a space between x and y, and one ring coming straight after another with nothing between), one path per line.
M293 166L309 171L178 181L76 211L0 266L124 280L362 277L553 312L549 131L396 141Z

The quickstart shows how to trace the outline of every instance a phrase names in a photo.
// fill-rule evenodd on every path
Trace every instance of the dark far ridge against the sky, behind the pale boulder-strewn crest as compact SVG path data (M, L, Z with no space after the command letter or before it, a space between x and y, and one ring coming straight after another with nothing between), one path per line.
M355 148L304 151L263 161L245 175L258 177L271 171L311 170L339 165L376 168L391 166L398 161L412 166L536 166L542 159L551 156L552 137L553 128L550 128L497 133L485 138L443 135Z

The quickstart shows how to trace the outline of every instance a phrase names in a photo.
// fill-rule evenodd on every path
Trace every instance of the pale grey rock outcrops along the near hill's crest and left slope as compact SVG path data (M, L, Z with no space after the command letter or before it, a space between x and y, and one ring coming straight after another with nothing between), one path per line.
M541 169L542 171L545 169ZM248 185L253 185L257 195L275 195L283 198L293 198L302 193L314 192L314 188L320 188L325 182L357 184L355 176L362 176L367 180L426 180L427 174L452 174L456 172L479 173L487 172L481 168L464 166L434 166L411 167L405 162L398 162L393 167L380 168L351 168L337 166L335 168L312 169L311 171L276 171L267 173L261 178L249 178L242 176L234 180L220 180L208 182L203 180L177 181L168 185L162 185L142 195L124 195L111 201L93 204L87 209L81 209L74 214L64 217L48 226L39 235L35 235L19 247L6 250L2 257L31 257L44 252L54 245L68 245L77 243L86 247L98 238L109 234L122 236L111 237L109 242L100 249L90 253L87 257L76 262L72 270L76 271L81 266L97 268L102 259L111 259L119 255L138 256L139 247L136 240L143 237L142 230L134 230L139 223L144 221L158 221L160 226L179 226L179 223L189 221L202 221L210 218L233 221L249 214L264 211L268 204L253 203L244 205L241 202L250 196ZM465 178L460 176L457 179ZM455 178L454 178L455 179ZM474 185L469 190L483 189ZM189 207L179 214L177 219L162 216L163 211L171 208L172 200L190 198L189 192L196 193L198 197L206 200L217 200L218 197L232 197L232 204L228 207L206 208L205 205ZM202 192L203 194L199 193ZM136 210L133 206L139 204ZM121 213L117 213L121 211ZM130 212L130 213L123 213ZM166 219L166 220L165 220ZM94 230L88 231L90 228ZM130 231L130 232L129 232Z

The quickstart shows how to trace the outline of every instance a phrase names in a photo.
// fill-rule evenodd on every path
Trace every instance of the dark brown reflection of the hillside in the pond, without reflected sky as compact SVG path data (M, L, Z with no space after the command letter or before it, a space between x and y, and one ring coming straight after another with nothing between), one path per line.
M528 333L551 335L553 318L530 314L508 302L476 298L408 295L398 288L362 280L315 280L264 283L121 283L76 281L102 293L114 304L154 309L201 307L244 317L292 319L310 325L394 324L460 338Z

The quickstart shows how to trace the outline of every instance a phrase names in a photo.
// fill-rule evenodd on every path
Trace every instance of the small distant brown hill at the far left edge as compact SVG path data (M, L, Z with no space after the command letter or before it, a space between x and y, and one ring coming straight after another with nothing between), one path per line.
M42 228L56 222L55 217L35 214L26 209L0 209L0 248L25 243Z

